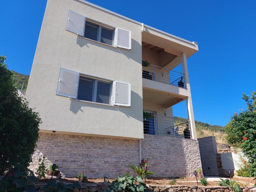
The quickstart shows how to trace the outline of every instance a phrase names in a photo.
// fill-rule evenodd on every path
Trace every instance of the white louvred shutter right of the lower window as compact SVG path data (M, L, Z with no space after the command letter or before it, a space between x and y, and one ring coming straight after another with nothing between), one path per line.
M114 81L114 105L131 106L131 83Z

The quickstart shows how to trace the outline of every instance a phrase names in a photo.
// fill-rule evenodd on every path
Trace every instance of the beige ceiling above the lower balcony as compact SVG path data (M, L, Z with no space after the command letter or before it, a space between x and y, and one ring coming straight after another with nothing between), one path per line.
M142 94L143 101L162 105L165 109L185 100L185 98L179 98L172 94L148 89L143 89Z

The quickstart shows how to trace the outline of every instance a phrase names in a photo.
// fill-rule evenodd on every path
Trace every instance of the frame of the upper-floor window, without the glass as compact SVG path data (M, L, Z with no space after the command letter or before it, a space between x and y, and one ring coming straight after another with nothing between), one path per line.
M85 37L85 31L86 31L86 25L87 25L86 22L89 22L89 23L87 23L88 25L90 25L90 23L95 24L95 25L99 25L98 34L97 34L97 42L99 42L99 43L103 43L103 42L101 42L101 28L102 27L105 28L105 29L113 30L112 45L109 45L109 44L106 44L106 43L103 43L103 44L115 47L116 27L113 27L113 26L110 26L110 25L107 25L107 24L98 22L94 19L86 17L85 24L84 24L84 35L83 35L83 37L86 38L86 39L89 39L89 38ZM93 27L95 27L95 26L93 26ZM90 39L90 40L95 41L93 39Z

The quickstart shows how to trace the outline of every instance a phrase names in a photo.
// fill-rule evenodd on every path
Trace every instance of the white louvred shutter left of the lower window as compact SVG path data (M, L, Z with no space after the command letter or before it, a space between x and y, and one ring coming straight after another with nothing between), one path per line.
M61 67L56 95L76 99L78 80L79 72Z

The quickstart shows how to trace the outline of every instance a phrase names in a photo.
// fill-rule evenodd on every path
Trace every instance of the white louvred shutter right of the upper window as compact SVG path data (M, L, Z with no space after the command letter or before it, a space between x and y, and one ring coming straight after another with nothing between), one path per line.
M116 28L116 47L132 49L132 31Z

